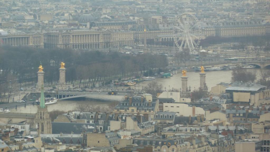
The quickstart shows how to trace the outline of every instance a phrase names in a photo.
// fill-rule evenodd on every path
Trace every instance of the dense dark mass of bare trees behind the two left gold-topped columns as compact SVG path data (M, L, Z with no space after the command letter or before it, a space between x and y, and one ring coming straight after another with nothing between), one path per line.
M15 83L34 86L40 64L45 72L44 82L55 84L59 80L60 62L66 64L66 81L80 80L80 87L148 76L167 66L166 57L161 55L4 46L0 48L0 97L10 91L3 89Z

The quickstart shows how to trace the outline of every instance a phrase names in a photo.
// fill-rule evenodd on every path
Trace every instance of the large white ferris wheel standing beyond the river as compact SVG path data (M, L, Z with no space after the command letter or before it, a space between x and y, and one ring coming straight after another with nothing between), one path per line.
M179 50L195 51L201 41L201 25L196 16L181 14L174 23L173 38Z

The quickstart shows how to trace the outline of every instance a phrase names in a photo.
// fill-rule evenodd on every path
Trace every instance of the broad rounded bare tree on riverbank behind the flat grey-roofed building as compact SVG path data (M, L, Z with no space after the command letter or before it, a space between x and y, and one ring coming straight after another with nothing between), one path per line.
M232 81L254 82L256 80L256 73L248 71L247 69L236 68L232 70Z

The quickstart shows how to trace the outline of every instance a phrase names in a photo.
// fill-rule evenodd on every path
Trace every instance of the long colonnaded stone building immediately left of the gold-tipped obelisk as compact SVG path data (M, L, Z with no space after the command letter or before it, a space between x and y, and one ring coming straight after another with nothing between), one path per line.
M133 46L133 32L125 30L66 29L44 34L45 48L95 49Z

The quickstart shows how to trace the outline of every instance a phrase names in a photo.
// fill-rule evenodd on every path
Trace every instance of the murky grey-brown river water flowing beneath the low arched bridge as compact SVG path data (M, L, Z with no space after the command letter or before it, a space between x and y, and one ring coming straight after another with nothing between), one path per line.
M257 73L257 77L259 77L259 69L249 69L253 72ZM208 86L208 91L211 90L211 87L214 87L220 82L231 82L231 70L224 70L224 71L207 71L206 72L206 84ZM155 80L152 80L153 82L157 82L159 84L162 84L164 89L166 87L166 90L177 88L178 90L181 87L181 72L178 72L177 74L173 75L173 77L170 78L156 78ZM200 75L199 72L187 72L188 76L188 87L191 87L191 90L199 88L200 87ZM142 87L145 87L148 83L152 81L143 81L139 84L136 84L135 86L131 86L132 89L136 88L142 89ZM69 110L76 110L76 107L78 105L82 104L93 104L93 105L100 105L100 106L107 106L110 103L110 101L96 101L96 100L60 100L56 104L48 105L48 111L53 110L62 110L62 111L69 111ZM37 111L37 105L29 105L26 107L18 107L18 109L11 109L11 112L16 113L36 113Z

